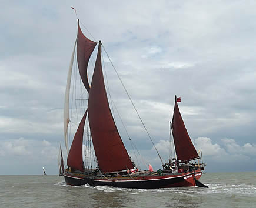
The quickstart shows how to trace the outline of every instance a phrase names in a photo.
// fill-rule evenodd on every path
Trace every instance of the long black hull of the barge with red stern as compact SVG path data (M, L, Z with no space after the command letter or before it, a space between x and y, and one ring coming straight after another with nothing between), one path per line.
M189 173L185 176L192 176L194 173ZM201 176L201 174L200 174ZM197 176L199 179L200 176ZM98 178L78 178L68 175L64 175L65 182L72 186L82 186L89 184L90 186L112 186L118 188L128 188L128 189L159 189L168 187L182 187L182 186L196 186L194 176L187 177L182 176L172 176L165 178L155 178L150 177L149 179L142 180L107 180Z

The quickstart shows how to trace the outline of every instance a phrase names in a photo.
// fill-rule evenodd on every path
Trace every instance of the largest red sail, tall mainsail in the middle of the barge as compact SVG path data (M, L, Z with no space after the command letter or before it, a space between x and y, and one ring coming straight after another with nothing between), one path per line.
M101 66L101 42L89 92L88 117L99 169L104 173L132 169L131 159L109 108Z

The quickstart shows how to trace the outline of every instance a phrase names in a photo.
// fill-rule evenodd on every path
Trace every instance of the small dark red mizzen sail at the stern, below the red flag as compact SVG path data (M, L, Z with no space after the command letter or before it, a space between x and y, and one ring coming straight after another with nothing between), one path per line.
M199 157L188 135L176 100L172 118L172 134L174 136L174 145L178 160L188 161Z

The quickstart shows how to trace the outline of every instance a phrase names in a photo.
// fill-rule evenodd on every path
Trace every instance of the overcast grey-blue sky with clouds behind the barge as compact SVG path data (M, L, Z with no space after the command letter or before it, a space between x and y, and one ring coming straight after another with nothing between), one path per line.
M1 175L42 174L42 166L48 174L58 174L60 142L65 149L65 85L77 35L71 6L88 38L102 41L165 160L177 95L189 136L207 163L206 172L256 170L255 1L3 1L2 5ZM107 55L103 58L110 65ZM146 163L161 168L114 69L104 73L132 142ZM118 119L117 126L134 156Z

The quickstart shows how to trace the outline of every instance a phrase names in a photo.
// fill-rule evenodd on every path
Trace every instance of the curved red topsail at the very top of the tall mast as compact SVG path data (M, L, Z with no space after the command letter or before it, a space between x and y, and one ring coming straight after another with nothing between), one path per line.
M96 42L89 40L81 31L79 22L78 22L78 32L77 32L77 63L80 72L82 82L84 83L85 88L89 92L90 86L88 83L87 77L87 66L89 58L94 51Z

